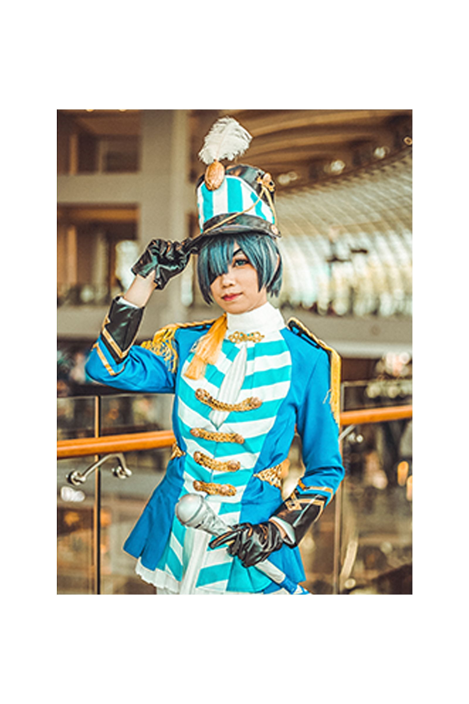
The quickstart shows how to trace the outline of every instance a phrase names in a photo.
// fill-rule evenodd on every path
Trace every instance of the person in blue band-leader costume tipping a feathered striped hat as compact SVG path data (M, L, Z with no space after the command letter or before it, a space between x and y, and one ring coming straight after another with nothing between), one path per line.
M200 151L200 234L150 242L86 366L117 389L174 394L174 451L124 544L158 594L309 593L299 584L298 544L344 475L340 358L299 321L285 324L267 300L282 280L274 184L262 170L220 162L250 139L231 118L212 127ZM169 325L134 345L148 298L191 253L203 298L224 314ZM295 432L305 472L282 501Z

